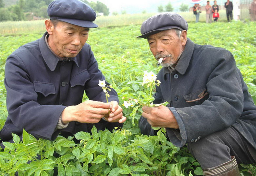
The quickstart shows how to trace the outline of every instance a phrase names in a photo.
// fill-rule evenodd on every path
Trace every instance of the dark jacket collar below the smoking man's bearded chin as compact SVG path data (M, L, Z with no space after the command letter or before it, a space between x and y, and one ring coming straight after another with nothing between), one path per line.
M180 57L177 65L174 68L180 74L185 74L185 72L188 68L190 59L192 57L194 48L195 48L195 43L193 41L191 41L189 38L187 38L185 48L181 54L181 57ZM170 71L168 70L167 67L164 67L163 69L164 69L164 75L166 73L170 73Z

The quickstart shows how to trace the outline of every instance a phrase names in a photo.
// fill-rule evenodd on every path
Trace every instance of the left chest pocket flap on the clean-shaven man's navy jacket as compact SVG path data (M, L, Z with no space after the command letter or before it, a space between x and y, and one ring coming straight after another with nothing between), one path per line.
M34 89L37 93L43 94L47 97L50 94L56 94L55 85L51 83L43 83L39 81L34 81Z

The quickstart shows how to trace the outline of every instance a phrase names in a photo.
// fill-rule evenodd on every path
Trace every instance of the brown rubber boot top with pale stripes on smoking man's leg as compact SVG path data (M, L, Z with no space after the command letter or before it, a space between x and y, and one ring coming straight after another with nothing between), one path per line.
M239 176L239 169L236 158L231 156L231 160L213 168L203 169L205 176Z

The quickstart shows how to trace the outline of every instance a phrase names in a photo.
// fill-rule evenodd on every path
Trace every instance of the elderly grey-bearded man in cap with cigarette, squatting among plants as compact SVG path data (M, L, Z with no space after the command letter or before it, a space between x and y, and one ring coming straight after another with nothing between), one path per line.
M154 104L143 107L139 127L165 127L177 147L186 143L204 175L239 175L238 163L256 161L256 106L232 54L187 38L187 22L176 13L150 17L141 25L163 68ZM236 158L236 159L235 159ZM237 161L237 162L236 162Z

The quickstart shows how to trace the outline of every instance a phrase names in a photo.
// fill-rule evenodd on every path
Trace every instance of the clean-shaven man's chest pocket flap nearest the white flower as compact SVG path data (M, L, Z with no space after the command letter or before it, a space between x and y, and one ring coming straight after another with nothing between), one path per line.
M75 87L77 85L84 86L86 81L90 79L90 74L87 70L83 70L76 75L73 75L70 79L71 87Z

